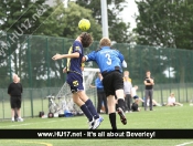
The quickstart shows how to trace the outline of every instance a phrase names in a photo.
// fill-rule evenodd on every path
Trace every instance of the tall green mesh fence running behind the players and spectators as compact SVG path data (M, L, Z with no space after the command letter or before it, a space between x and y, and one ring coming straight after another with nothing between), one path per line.
M65 82L62 72L66 60L52 61L55 53L67 53L74 40L40 35L4 34L0 40L0 118L10 117L7 87L12 82L12 73L21 77L24 87L22 112L24 116L37 115L47 108L45 95L56 93ZM94 42L84 53L98 48ZM193 98L193 51L185 49L153 48L116 43L128 63L132 84L139 86L138 94L143 96L143 79L150 70L154 77L153 98L167 102L170 92L175 93L179 102ZM97 67L95 63L86 66Z

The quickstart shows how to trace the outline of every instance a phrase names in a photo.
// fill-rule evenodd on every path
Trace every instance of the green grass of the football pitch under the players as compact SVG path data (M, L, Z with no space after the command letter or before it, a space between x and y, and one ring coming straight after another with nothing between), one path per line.
M128 124L122 125L117 116L118 128L192 128L193 106L185 104L182 107L154 107L153 112L143 109L139 113L128 113ZM108 115L99 129L110 128ZM85 116L60 118L25 118L23 123L1 121L0 128L87 128ZM193 142L193 139L1 139L0 146L175 146ZM49 145L50 144L50 145ZM193 144L189 144L191 146Z

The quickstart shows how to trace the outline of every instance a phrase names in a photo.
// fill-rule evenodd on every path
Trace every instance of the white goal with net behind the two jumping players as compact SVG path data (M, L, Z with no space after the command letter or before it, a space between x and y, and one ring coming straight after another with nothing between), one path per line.
M96 87L92 87L92 85L95 86L97 72L99 72L99 69L85 67L83 71L83 85L87 96L93 101L95 107L97 105L97 92ZM69 112L73 115L82 114L81 108L73 102L73 94L71 93L71 88L66 82L55 97L60 98L60 102L57 103L58 108L53 113L63 114L65 112Z

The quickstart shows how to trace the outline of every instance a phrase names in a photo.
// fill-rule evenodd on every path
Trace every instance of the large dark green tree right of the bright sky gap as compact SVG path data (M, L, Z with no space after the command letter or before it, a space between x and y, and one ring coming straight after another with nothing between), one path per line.
M136 33L138 33L138 44L153 45L158 48L193 49L193 1L191 0L142 0L137 1L139 15L137 17ZM186 51L187 52L187 51ZM170 54L173 55L170 55ZM180 51L162 51L165 69L173 67L175 77L183 83L190 72L185 73L191 58L190 53L179 55ZM183 60L179 60L183 58ZM178 63L175 63L178 62ZM186 63L185 63L186 62Z

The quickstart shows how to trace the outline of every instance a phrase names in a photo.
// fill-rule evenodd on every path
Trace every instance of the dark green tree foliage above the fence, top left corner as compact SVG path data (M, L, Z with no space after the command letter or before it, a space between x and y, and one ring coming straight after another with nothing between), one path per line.
M18 35L39 34L36 30L53 11L45 0L3 0L0 9L1 30Z

